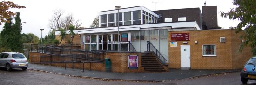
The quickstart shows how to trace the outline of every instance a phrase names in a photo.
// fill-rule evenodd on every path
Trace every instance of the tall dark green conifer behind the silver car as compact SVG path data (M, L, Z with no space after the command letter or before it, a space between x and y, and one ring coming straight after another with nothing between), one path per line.
M1 47L11 49L12 51L22 51L22 37L20 27L20 13L17 12L15 16L15 24L12 25L12 18L9 18L10 22L4 24L3 30L1 31ZM4 38L3 38L4 37Z

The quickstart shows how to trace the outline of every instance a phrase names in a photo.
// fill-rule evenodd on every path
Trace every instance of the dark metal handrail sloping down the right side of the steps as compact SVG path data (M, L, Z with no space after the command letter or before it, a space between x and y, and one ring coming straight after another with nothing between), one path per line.
M147 41L147 51L153 51L153 54L156 55L156 58L162 63L162 65L166 64L167 60L162 56L160 51L158 51L150 41Z

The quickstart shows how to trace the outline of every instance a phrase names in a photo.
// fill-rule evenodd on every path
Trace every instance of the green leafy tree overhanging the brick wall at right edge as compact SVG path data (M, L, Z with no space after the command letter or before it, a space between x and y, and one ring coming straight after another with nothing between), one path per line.
M249 44L252 48L251 51L256 52L256 0L233 0L233 4L237 7L229 12L221 12L221 16L240 21L236 27L230 27L235 29L236 33L245 32L244 35L240 36L240 38L245 39L245 42L240 45L239 51L242 51L243 47ZM242 27L245 29L242 30Z

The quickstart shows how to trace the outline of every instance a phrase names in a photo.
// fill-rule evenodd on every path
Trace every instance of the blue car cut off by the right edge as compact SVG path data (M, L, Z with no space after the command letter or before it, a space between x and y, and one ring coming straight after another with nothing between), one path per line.
M249 80L256 80L256 57L250 58L244 65L240 73L241 82L247 83Z

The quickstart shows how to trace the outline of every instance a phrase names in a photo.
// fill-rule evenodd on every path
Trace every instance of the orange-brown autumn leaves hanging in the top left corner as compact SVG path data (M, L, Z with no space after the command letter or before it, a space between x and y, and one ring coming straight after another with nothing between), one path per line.
M15 16L14 12L8 11L10 8L26 8L25 6L20 6L14 4L12 1L1 1L0 2L0 25L4 22L10 22L9 18Z

